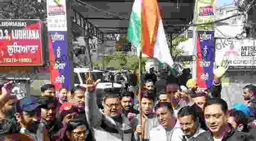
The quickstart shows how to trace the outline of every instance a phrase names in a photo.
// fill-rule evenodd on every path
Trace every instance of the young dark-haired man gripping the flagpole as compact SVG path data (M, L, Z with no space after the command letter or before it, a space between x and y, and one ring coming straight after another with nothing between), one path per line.
M150 130L152 128L155 128L158 126L158 119L153 111L153 105L154 105L154 97L152 97L152 94L150 94L149 91L142 91L141 94L141 112L142 112L142 118L141 115L138 114L136 124L136 130L135 130L135 139L139 140L139 136L142 135L143 139L149 139L150 137ZM142 119L142 121L141 121ZM142 126L141 126L142 123Z

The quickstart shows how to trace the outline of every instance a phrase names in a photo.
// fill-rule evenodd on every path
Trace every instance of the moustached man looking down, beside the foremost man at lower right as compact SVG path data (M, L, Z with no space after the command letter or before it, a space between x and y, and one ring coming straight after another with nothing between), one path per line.
M178 119L181 128L173 131L171 141L207 141L206 130L201 128L200 113L193 106L181 108L178 112Z

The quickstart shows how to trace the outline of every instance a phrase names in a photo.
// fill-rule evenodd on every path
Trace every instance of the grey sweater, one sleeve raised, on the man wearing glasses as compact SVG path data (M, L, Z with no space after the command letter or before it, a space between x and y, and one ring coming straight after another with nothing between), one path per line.
M96 141L131 141L134 134L133 122L122 115L122 123L114 121L110 116L104 115L96 103L96 94L94 92L85 92L85 113L90 128L94 132ZM117 132L112 132L112 130Z

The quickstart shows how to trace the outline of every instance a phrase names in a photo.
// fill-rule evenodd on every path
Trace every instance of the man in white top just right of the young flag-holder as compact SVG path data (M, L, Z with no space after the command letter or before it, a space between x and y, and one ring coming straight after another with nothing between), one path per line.
M171 141L174 138L173 130L175 130L176 117L170 103L158 103L155 108L159 125L150 130L149 141ZM181 133L181 132L180 132Z

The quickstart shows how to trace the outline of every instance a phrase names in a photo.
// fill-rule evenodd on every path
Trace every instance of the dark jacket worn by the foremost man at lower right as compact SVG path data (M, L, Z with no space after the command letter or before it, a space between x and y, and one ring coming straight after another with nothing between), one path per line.
M248 133L239 132L229 124L232 128L229 133L226 133L222 138L222 141L254 141L255 138ZM213 135L210 131L202 133L195 141L214 141Z

